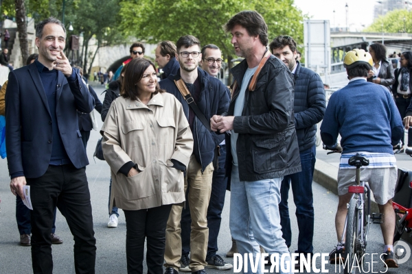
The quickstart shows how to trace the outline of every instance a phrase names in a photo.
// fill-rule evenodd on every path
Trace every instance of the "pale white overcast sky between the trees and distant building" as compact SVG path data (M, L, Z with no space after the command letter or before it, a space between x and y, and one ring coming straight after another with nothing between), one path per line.
M303 14L308 14L316 20L329 20L330 27L345 27L346 3L349 7L348 25L371 25L376 4L374 0L295 0L295 5Z

